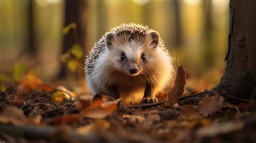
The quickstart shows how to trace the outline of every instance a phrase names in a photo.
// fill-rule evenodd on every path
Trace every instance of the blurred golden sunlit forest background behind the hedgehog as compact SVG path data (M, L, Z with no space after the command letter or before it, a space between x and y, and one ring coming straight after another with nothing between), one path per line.
M87 55L105 32L133 22L158 31L172 57L177 38L187 86L210 89L225 70L228 4L228 0L0 0L0 82L6 75L15 78L18 68L29 69L44 82L83 83L83 75L74 76L61 55L75 43ZM77 29L64 35L70 23ZM78 70L83 73L83 68Z

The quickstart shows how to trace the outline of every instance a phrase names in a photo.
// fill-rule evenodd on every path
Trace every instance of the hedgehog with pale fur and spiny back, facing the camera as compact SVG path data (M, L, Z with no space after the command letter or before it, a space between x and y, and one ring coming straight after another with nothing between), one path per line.
M106 32L85 61L92 94L105 94L125 103L157 103L169 86L172 58L159 33L140 24L121 24Z

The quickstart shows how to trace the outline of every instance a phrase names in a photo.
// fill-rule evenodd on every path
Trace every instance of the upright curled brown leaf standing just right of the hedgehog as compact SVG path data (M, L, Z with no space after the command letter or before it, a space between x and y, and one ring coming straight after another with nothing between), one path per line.
M185 70L183 69L183 66L180 65L178 66L178 69L177 69L177 75L174 81L174 86L172 90L168 92L167 100L164 103L166 107L170 107L170 108L173 107L173 105L178 102L178 99L180 97L183 97L184 86L186 84L185 78L186 78Z

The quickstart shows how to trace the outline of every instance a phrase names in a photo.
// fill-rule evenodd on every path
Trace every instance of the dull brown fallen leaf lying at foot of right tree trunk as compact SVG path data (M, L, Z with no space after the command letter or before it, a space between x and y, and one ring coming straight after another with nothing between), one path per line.
M204 117L208 115L216 114L223 106L224 98L218 93L215 93L214 96L209 97L206 95L198 103L198 112L201 113Z

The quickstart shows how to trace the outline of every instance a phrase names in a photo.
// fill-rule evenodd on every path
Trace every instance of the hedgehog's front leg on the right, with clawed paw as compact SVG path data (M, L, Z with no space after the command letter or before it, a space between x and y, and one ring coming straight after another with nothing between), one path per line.
M142 99L142 103L157 103L158 100L156 98L156 93L155 93L156 87L154 87L152 84L147 83L146 88L145 88L145 93L144 97Z

